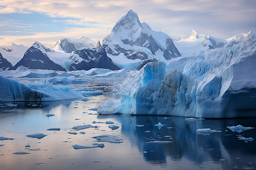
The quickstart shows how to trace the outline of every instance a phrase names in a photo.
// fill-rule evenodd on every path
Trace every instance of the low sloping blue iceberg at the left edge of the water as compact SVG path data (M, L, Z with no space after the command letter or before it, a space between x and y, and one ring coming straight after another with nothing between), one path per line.
M0 75L0 101L52 101L83 97L67 86L33 82L28 85Z

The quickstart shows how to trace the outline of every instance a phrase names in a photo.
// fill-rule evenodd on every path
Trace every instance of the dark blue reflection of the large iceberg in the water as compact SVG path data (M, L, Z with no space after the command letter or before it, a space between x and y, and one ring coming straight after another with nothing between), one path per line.
M256 165L255 141L244 142L237 138L239 135L256 138L256 130L247 130L239 134L226 129L227 126L239 124L255 127L255 118L185 121L183 117L98 116L99 119L110 117L122 124L121 133L129 137L132 145L137 146L144 159L152 164L167 163L167 157L170 157L176 161L188 159L196 165L214 162L222 164L223 169ZM158 122L166 126L159 130L155 126ZM222 132L210 135L196 134L199 128L210 128ZM171 143L150 141L171 141Z

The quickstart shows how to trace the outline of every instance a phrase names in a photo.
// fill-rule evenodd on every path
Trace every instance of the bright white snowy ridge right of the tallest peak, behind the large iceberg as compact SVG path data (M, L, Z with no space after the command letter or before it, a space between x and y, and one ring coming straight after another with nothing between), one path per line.
M240 33L231 37L230 39L219 39L210 35L206 36L204 34L199 34L193 29L191 35L187 39L184 39L181 36L181 39L174 41L174 43L181 55L185 56L188 54L198 53L214 48L221 48L224 46L231 47L242 41L251 40L255 40L255 36L251 31L248 33Z

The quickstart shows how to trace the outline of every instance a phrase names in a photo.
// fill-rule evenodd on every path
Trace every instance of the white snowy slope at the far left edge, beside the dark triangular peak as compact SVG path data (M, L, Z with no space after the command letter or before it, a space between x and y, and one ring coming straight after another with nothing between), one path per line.
M0 53L7 59L11 65L15 65L23 57L28 48L24 45L11 44L9 46L0 46Z

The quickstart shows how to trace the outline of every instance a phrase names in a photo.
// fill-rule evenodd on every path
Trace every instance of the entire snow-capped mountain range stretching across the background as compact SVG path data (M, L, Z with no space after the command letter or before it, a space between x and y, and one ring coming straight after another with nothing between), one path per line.
M141 23L130 10L114 25L112 32L102 41L89 37L64 38L52 48L36 41L30 48L11 44L0 46L0 68L15 70L19 66L29 69L58 71L89 70L139 70L146 63L168 61L171 58L198 53L214 48L229 48L241 41L255 41L255 36L241 33L230 39L218 39L192 31L187 39L172 40L166 33L154 31Z

